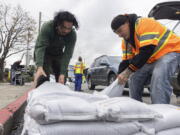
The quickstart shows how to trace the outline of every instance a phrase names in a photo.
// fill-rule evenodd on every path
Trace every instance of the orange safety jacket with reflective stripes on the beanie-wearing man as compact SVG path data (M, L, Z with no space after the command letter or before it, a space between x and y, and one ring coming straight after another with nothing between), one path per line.
M156 45L154 53L147 63L152 63L170 52L180 53L180 37L153 18L139 18L135 24L135 46L122 41L123 60L132 59L139 54L139 48Z

